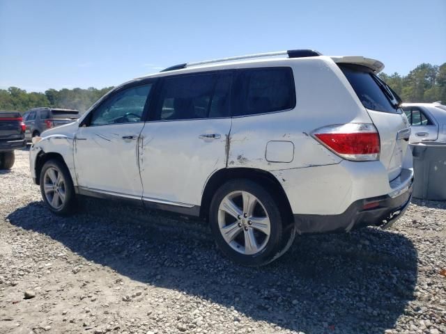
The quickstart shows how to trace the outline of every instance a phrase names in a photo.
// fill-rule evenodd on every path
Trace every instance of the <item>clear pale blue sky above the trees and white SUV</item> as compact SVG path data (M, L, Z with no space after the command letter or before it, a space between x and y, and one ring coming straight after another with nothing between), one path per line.
M446 62L446 0L0 0L0 88L102 88L209 58L312 48L407 74Z

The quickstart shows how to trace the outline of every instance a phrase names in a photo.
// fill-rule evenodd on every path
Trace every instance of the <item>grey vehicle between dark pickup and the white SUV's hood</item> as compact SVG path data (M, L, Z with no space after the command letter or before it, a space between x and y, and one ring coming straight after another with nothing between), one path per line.
M34 108L24 113L25 138L28 141L52 127L68 124L79 118L80 113L71 109Z

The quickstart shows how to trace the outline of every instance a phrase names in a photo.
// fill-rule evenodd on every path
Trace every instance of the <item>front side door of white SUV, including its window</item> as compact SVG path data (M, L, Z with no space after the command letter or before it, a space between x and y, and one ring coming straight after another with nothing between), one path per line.
M82 121L75 138L77 184L82 189L141 198L138 143L151 87L121 88Z

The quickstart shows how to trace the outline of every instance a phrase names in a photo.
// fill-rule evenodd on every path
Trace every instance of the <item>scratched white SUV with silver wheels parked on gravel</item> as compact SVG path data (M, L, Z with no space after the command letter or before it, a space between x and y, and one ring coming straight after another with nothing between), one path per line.
M201 216L259 266L294 235L385 226L412 193L410 128L383 63L290 50L187 63L128 81L31 147L57 214L78 195Z

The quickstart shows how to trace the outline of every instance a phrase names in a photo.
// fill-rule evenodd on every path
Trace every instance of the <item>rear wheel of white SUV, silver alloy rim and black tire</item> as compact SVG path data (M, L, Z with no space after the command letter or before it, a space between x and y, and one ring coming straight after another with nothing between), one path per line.
M277 199L251 180L232 180L217 190L210 205L210 228L217 245L234 262L258 267L285 253L293 225Z

